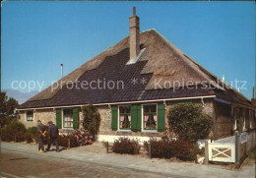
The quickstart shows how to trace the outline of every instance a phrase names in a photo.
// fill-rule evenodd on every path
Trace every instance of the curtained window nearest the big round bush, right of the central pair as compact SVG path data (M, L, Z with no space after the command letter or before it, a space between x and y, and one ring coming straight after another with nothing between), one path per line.
M143 121L145 130L157 130L157 104L143 106Z

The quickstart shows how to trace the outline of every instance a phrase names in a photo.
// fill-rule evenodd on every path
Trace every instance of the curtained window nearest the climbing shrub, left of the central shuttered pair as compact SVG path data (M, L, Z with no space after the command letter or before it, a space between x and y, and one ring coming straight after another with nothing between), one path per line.
M131 129L131 106L130 105L119 106L119 129L120 130Z

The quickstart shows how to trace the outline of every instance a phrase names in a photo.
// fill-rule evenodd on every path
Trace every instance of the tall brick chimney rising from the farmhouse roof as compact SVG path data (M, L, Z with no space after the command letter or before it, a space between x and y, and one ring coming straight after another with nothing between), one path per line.
M136 9L133 7L133 16L130 20L130 59L135 59L140 51L140 18L136 16Z

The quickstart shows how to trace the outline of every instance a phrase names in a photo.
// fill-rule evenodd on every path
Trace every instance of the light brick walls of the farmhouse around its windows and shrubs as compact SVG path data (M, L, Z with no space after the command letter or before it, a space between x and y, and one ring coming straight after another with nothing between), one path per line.
M196 104L203 106L203 111L214 120L214 129L210 134L210 137L214 140L229 137L230 136L230 106L223 104L221 102L214 102L211 98L203 99L193 99L193 100L182 100L182 102L192 101ZM181 102L180 100L176 101L167 101L165 108L165 128L166 134L168 136L175 137L173 133L169 132L169 126L167 123L167 112L175 104ZM149 132L123 132L123 131L112 131L111 129L111 109L105 106L98 106L98 112L100 114L100 126L99 126L99 135L113 135L113 136L141 136L141 137L160 137L163 133L149 133ZM48 121L53 121L56 124L56 115L53 109L39 109L34 112L33 122L26 121L26 112L20 111L20 121L23 122L26 127L36 126L36 121L39 119L43 124L46 124ZM83 128L83 112L79 111L80 117L80 128Z

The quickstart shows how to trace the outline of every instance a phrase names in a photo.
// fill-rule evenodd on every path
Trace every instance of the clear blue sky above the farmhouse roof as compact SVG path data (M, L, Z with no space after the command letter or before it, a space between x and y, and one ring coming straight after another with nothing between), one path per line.
M158 30L247 98L255 86L255 3L1 2L1 88L45 89L129 34L136 6L140 30ZM245 84L245 86L242 85ZM30 87L29 87L30 86Z

